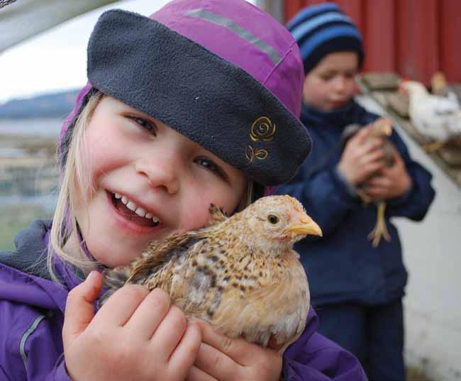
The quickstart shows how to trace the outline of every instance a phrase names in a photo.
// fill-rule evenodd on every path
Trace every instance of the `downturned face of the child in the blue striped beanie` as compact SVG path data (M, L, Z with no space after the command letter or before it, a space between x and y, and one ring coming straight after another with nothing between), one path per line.
M354 52L330 53L304 79L303 100L321 111L345 105L355 92L358 57Z

